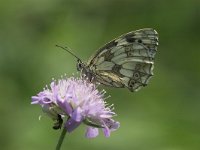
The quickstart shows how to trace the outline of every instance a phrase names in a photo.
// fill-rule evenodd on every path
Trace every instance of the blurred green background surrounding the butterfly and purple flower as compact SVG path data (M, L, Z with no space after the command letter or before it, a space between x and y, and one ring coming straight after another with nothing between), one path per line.
M137 93L106 88L118 131L67 135L62 149L200 149L200 1L7 0L0 1L0 149L53 150L60 131L31 96L52 78L76 73L83 60L111 39L140 28L159 33L155 76Z

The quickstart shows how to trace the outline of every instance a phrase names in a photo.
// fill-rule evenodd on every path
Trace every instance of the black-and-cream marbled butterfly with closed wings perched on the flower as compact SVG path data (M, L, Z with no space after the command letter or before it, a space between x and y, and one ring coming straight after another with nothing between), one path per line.
M153 76L158 33L144 28L123 34L98 49L87 63L56 46L77 58L77 70L90 81L134 92Z

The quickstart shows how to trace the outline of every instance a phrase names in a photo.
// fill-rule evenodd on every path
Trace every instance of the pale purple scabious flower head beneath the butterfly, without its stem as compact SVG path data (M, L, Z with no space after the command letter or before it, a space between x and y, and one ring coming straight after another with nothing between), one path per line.
M96 86L87 80L66 78L52 81L37 96L32 96L31 104L40 104L42 110L57 121L54 128L60 128L62 118L66 117L64 127L72 132L81 123L87 125L86 137L96 137L101 128L106 137L119 128L119 122L112 119L116 114L113 107L106 104L105 92L99 92Z

